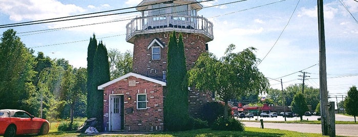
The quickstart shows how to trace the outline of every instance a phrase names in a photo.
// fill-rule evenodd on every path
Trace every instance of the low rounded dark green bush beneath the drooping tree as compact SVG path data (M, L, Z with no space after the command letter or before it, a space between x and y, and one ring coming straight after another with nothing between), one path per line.
M245 125L232 117L228 117L227 120L225 120L224 117L220 117L214 122L212 129L227 131L244 131Z

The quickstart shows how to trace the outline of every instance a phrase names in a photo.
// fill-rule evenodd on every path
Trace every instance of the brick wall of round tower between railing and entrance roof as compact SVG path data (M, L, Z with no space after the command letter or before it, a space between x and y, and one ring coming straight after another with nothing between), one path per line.
M206 52L205 40L203 37L193 33L182 33L182 35L186 68L189 70L193 67L200 54ZM169 32L138 35L134 40L133 72L144 76L162 78L162 72L166 71L169 37ZM177 37L179 38L179 33L177 33ZM154 38L158 38L165 45L163 49L160 49L160 60L152 60L152 49L148 49Z

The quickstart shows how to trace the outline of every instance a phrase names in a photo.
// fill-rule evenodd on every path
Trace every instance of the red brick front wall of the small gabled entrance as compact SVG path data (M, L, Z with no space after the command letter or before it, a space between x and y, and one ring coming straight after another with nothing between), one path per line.
M129 82L135 81L135 86ZM103 120L109 130L109 96L124 96L124 130L156 131L163 130L163 89L160 84L136 77L129 77L104 88ZM137 109L137 94L146 94L147 109ZM128 97L131 96L131 100ZM133 111L127 111L132 108Z

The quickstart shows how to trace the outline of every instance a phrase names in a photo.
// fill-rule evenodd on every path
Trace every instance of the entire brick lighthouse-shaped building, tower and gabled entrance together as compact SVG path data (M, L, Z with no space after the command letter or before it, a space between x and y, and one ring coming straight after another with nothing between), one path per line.
M166 91L167 43L173 31L183 36L186 68L207 51L214 39L213 24L197 16L196 0L144 0L137 10L141 17L127 25L127 42L133 43L133 70L98 86L104 94L104 130L163 130L163 100ZM212 100L211 93L189 88L189 111Z

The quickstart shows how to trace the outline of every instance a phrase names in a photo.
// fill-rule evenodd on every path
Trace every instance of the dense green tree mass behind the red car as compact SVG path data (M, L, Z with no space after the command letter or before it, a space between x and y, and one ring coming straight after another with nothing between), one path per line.
M57 119L65 110L65 95L72 92L61 90L68 86L61 83L70 81L65 76L65 70L72 69L72 66L63 58L52 60L43 52L38 52L36 57L33 53L20 41L14 30L9 29L3 33L0 41L0 98L4 100L0 101L0 109L23 109L36 117ZM83 83L83 80L77 78L80 77L75 75L74 87L79 82ZM76 110L86 109L85 98L77 99L82 102L76 103Z

